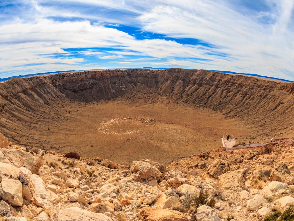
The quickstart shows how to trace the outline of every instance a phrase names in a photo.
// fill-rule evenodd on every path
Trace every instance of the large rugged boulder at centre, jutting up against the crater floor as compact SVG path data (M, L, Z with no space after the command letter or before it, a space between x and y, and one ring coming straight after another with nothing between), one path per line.
M156 168L156 166L144 161L133 161L131 171L137 173L138 177L141 179L156 179L157 181L162 181L162 173Z

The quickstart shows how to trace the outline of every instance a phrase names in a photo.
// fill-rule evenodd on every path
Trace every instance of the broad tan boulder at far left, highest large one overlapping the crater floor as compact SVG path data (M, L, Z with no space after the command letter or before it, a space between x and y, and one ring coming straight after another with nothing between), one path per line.
M38 156L21 149L4 149L3 154L17 168L25 167L34 174L38 174L42 166L42 160Z

